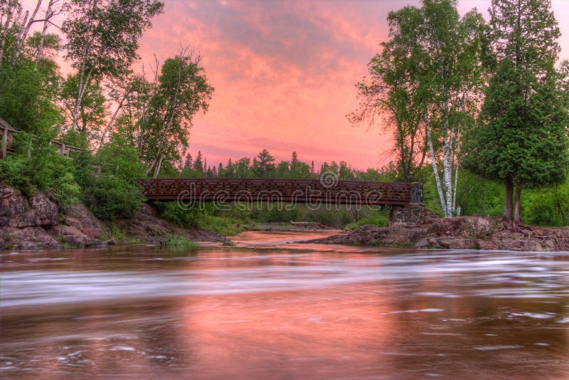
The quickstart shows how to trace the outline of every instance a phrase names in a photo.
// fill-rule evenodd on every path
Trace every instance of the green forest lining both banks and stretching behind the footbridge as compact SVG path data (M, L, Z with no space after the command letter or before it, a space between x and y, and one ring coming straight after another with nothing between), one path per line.
M193 119L215 95L201 56L188 46L146 63L137 53L163 11L157 0L37 0L28 11L21 1L0 0L0 117L21 132L14 154L0 159L1 182L25 194L45 191L61 209L82 202L112 221L144 201L142 178L333 172L420 181L425 206L447 218L569 224L569 63L559 61L551 1L492 0L487 20L476 9L461 16L454 0L391 11L388 41L356 84L360 107L346 110L346 127L371 125L393 137L388 164L363 171L332 160L314 167L296 152L277 162L268 149L208 165L206 154L190 149ZM71 73L61 73L61 59ZM53 139L83 150L68 159L48 144ZM382 213L346 210L309 216L160 207L164 218L190 226L386 223Z

